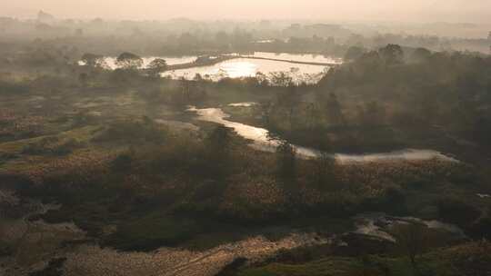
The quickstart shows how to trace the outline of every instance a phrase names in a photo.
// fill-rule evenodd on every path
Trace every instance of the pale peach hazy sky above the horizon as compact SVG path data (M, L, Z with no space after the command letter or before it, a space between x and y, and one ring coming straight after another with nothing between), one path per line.
M491 0L0 0L0 15L113 19L324 19L491 23Z

